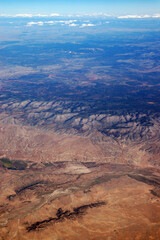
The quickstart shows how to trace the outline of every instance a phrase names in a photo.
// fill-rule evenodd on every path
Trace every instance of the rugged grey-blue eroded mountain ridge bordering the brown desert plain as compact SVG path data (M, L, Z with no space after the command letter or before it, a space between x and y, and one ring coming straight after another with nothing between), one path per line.
M102 107L102 106L100 106ZM104 107L104 106L103 106ZM59 133L89 135L95 130L115 139L132 141L159 137L160 114L148 111L109 111L96 103L72 101L1 101L0 110L23 124ZM102 113L101 113L102 112ZM9 118L10 118L9 117Z

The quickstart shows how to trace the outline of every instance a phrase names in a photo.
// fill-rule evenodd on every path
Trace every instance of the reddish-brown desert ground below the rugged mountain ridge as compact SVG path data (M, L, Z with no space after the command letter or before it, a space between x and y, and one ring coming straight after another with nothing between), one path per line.
M160 239L158 144L1 121L0 239Z

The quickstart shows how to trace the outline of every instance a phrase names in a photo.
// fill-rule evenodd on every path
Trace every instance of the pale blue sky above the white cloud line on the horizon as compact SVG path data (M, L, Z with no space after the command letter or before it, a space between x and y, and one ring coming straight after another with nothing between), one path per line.
M160 0L0 0L0 14L160 13Z

